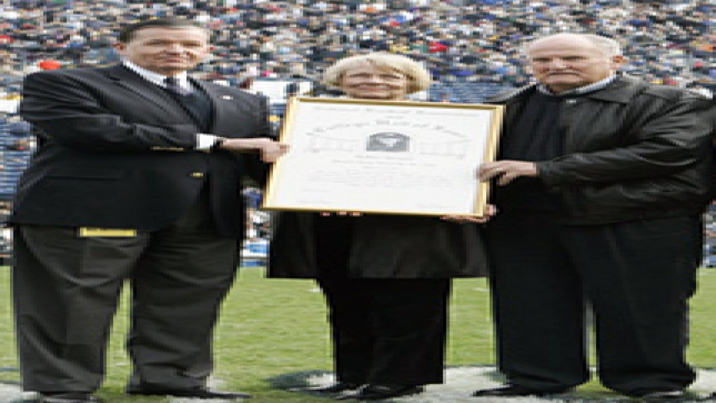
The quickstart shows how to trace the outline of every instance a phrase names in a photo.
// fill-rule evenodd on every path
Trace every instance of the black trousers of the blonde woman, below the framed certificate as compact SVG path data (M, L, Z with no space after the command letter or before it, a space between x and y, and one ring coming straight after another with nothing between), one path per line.
M336 379L356 384L443 381L450 279L349 278L350 218L319 219L319 276Z

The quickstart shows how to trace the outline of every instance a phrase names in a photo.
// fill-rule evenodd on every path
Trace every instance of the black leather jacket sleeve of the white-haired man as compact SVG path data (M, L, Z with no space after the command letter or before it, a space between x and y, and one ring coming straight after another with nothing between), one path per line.
M624 121L624 127L615 131L623 138L614 140L623 146L538 162L538 176L548 186L569 186L658 177L702 163L712 130L708 100L682 95L654 97L651 103L643 113L637 111L634 121ZM618 123L607 120L606 124Z

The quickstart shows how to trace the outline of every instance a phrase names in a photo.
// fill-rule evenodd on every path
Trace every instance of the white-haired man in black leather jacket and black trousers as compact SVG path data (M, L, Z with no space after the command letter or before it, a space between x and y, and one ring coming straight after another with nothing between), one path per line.
M710 199L709 102L619 75L619 44L556 34L526 47L538 80L504 103L487 226L498 366L475 396L566 392L589 379L585 301L599 377L651 401L680 399L688 300Z

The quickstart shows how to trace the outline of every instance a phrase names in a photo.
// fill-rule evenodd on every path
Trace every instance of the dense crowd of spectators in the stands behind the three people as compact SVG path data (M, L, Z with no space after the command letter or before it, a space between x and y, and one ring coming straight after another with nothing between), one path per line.
M118 27L170 14L213 29L213 55L197 74L230 85L314 79L369 50L423 60L443 82L521 85L521 43L565 31L618 39L624 70L650 82L716 82L710 0L0 0L6 92L34 70L115 62Z

